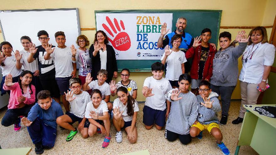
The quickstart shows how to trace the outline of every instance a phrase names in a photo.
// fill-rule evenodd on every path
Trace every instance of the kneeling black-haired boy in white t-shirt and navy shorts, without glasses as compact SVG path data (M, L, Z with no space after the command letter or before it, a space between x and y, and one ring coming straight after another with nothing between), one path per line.
M162 130L170 112L171 103L166 101L165 94L172 89L172 86L169 80L162 77L164 69L164 65L160 62L152 64L153 76L147 77L144 81L142 93L146 97L146 102L143 108L143 123L148 130L154 124L157 130Z

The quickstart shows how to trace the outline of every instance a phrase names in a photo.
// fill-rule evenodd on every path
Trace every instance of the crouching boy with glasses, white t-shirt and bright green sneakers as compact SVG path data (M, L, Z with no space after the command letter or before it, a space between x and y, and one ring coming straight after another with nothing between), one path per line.
M89 121L84 117L85 109L88 102L91 101L90 95L86 91L82 91L82 84L79 78L72 78L69 80L71 91L67 90L66 100L70 103L70 112L60 116L56 119L56 123L68 130L71 130L66 137L66 141L71 141L77 134L77 128L72 124L78 121L78 129L83 138L88 137Z

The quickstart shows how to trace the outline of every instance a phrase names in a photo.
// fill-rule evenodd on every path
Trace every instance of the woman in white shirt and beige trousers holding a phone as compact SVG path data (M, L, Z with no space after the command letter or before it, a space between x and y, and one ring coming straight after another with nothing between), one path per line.
M267 32L263 26L253 28L249 35L248 45L241 58L242 68L239 76L241 86L240 113L239 117L232 121L233 124L239 124L243 121L246 112L243 105L256 104L260 93L267 89L267 78L275 56L275 47L268 44Z

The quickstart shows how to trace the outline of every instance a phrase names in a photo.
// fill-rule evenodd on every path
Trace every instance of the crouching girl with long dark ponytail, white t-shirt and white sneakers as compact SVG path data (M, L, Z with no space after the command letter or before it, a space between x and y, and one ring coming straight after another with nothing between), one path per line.
M139 111L138 104L129 95L128 90L124 86L118 88L117 96L118 98L113 102L113 124L117 130L115 136L116 142L122 142L121 129L125 129L130 143L135 143L137 141L137 128L135 124L137 112Z

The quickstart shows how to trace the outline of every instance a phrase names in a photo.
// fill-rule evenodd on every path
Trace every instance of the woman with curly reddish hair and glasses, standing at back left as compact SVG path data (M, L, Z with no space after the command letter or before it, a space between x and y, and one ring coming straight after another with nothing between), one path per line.
M89 40L85 35L80 35L77 37L76 43L79 46L76 54L76 61L80 66L79 79L81 80L82 84L84 84L86 75L91 72L92 65L91 58L89 56L89 51L86 48L89 45ZM88 93L90 93L91 91L92 90L89 90Z

